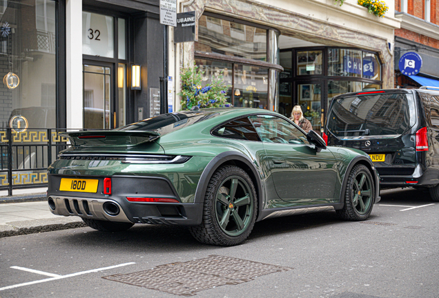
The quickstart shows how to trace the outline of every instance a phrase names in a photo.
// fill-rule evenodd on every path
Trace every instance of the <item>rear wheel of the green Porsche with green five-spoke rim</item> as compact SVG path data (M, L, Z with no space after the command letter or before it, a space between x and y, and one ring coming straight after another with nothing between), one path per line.
M224 166L209 181L202 224L190 230L202 243L235 246L250 235L256 210L256 192L251 178L242 168Z

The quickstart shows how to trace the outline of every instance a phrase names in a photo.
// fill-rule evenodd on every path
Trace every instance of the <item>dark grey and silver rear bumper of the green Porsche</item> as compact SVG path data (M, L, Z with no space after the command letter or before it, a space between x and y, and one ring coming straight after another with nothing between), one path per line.
M62 178L97 179L96 192L60 191ZM48 203L55 215L88 219L197 226L201 224L202 203L182 202L165 177L111 176L112 192L104 195L103 176L49 175ZM128 201L127 197L170 198L176 202Z

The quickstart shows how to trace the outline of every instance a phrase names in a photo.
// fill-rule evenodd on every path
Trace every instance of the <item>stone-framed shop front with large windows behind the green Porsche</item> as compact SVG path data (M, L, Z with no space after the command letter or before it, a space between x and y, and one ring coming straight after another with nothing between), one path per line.
M197 41L177 44L177 66L195 61L205 83L222 75L233 106L290 117L298 104L320 132L335 95L393 87L391 5L378 19L344 3L184 1L181 11L197 15Z

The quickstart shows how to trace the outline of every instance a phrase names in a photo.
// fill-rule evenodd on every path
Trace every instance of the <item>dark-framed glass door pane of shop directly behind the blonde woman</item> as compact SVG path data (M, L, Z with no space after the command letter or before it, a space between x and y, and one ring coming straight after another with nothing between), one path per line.
M315 132L322 130L324 109L322 107L322 86L320 81L296 83L297 104L302 108L303 115L308 119Z

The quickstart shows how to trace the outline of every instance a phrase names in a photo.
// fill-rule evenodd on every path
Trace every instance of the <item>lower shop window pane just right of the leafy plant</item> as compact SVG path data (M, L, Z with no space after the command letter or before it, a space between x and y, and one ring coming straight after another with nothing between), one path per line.
M235 64L233 106L268 110L268 90L268 68Z

